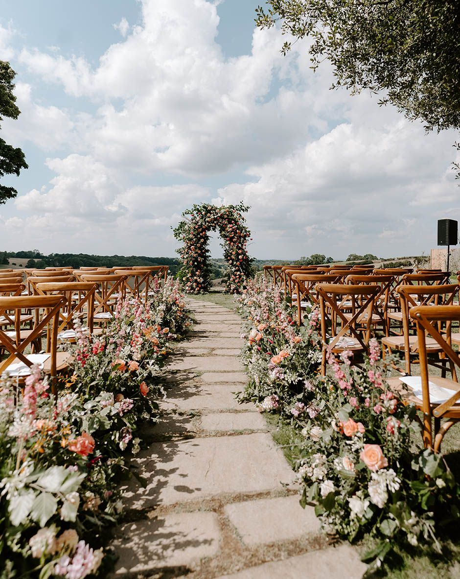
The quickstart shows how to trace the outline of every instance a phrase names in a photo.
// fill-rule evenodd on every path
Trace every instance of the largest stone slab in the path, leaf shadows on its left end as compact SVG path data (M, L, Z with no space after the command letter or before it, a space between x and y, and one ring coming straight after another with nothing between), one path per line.
M223 493L281 490L294 473L267 433L156 442L133 459L145 478L122 486L127 508L145 509Z

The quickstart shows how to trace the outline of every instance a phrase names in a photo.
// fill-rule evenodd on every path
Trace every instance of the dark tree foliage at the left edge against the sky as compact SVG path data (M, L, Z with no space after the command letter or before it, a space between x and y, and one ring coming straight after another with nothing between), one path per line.
M21 112L15 104L16 97L13 94L15 75L9 63L0 60L0 121L5 117L17 119ZM8 145L0 138L0 178L7 174L19 176L21 169L27 169L27 167L23 151ZM6 203L8 199L16 195L16 189L0 184L0 204Z

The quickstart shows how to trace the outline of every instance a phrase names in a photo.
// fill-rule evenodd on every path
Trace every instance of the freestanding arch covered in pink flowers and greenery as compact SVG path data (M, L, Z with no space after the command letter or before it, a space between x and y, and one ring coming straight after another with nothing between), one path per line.
M226 291L241 291L252 276L252 259L246 250L251 232L246 227L243 213L249 207L240 203L218 207L203 203L183 212L183 221L174 229L174 236L183 246L177 251L182 258L179 277L189 294L203 294L211 289L209 265L209 232L218 231L222 238L226 266Z

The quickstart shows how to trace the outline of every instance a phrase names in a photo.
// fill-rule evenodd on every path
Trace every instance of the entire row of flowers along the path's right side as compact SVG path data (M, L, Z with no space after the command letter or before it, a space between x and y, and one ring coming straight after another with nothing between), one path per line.
M388 385L391 358L381 360L377 340L362 367L351 365L349 351L340 360L329 353L322 378L314 313L295 327L281 292L263 280L238 301L249 327L242 336L249 373L243 398L289 418L301 504L315 506L327 533L373 537L376 547L363 557L373 566L396 545L440 550L439 529L460 515L460 485L442 455L419 448L417 413L402 403L403 384Z

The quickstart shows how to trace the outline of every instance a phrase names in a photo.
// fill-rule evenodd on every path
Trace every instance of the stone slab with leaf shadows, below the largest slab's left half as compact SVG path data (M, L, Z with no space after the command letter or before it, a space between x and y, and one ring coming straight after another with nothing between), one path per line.
M219 549L220 530L214 512L166 515L120 527L112 547L119 559L115 576L158 567L190 566Z

